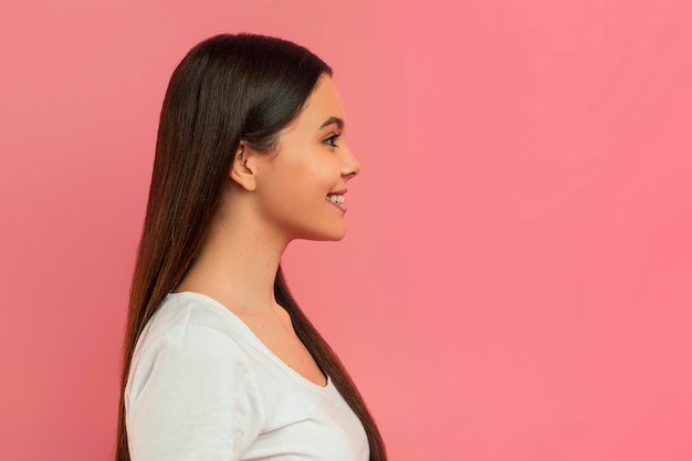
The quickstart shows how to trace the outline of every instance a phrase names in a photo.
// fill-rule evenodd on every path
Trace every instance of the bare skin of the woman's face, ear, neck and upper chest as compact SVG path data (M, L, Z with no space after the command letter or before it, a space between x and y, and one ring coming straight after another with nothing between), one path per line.
M276 303L274 279L292 240L345 235L344 211L326 196L345 191L360 165L336 119L345 119L342 101L323 75L298 117L280 133L274 153L241 142L211 230L176 290L227 306L279 358L319 386L326 378Z

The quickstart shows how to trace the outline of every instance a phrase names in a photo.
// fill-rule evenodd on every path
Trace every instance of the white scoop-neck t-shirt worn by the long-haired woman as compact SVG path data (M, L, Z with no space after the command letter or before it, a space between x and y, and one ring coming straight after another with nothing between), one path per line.
M363 425L329 379L305 379L198 293L169 294L147 324L125 409L133 461L369 459Z

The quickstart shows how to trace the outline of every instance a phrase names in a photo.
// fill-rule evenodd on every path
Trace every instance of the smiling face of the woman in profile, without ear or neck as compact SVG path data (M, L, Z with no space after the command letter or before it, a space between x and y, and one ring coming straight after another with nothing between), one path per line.
M280 133L275 155L260 165L263 213L291 240L345 235L344 195L360 165L345 142L344 121L338 91L323 75L298 117Z

